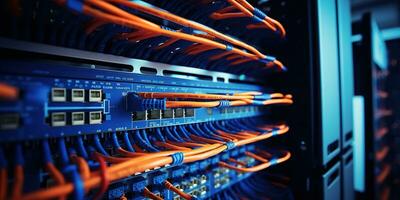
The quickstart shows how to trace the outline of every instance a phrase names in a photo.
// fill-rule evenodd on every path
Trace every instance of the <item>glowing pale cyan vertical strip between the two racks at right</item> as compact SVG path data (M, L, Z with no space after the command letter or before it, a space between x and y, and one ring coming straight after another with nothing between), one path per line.
M353 97L353 129L354 129L354 189L365 190L365 129L364 129L364 97Z

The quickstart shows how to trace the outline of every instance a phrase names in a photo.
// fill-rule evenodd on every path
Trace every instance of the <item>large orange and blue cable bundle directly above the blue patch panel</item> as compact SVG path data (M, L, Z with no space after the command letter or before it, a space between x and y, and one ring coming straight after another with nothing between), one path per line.
M4 9L11 1L4 2ZM17 1L2 35L132 58L259 76L286 68L272 56L141 1ZM66 10L67 8L67 10ZM72 11L72 12L71 12ZM40 13L37 16L34 13ZM10 19L5 16L4 19ZM4 20L3 19L3 20ZM27 22L18 23L19 21ZM32 27L34 27L32 29ZM21 35L21 31L25 30Z

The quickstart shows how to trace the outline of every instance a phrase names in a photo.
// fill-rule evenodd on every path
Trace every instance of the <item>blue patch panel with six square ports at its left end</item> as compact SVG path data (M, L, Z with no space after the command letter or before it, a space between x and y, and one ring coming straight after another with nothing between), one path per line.
M7 68L11 63L18 66L20 70L12 71L12 69ZM257 106L244 106L249 107L249 109L241 109L238 107L235 115L224 114L222 112L224 108L173 108L162 110L160 118L158 118L157 114L158 119L151 119L149 117L149 111L127 112L126 96L124 94L131 91L226 93L228 89L229 92L257 90L268 92L269 90L251 84L214 84L213 82L198 80L185 80L181 82L181 80L177 78L150 78L145 75L67 66L57 66L59 70L54 70L54 65L54 67L46 67L44 63L40 62L36 63L34 66L20 61L1 62L0 65L0 71L2 72L0 80L10 82L25 91L24 97L19 100L19 102L26 105L21 107L14 104L14 106L8 107L8 112L24 113L23 116L20 116L20 120L24 122L24 126L21 126L17 132L12 131L2 134L3 141L19 140L27 136L32 139L43 138L45 135L52 137L61 135L72 136L83 131L85 133L96 133L111 130L124 131L144 127L164 127L176 124L253 117L268 113L268 110L255 110L254 107ZM63 73L63 71L68 71L69 73ZM54 79L44 76L42 72L53 74L54 76L58 76L58 78ZM22 77L23 81L19 81L17 75ZM116 79L126 81L114 81ZM158 84L143 83L148 81L172 81L171 83L174 83L174 85L163 85L160 87ZM190 87L187 86L188 83L190 83ZM36 84L41 84L43 87L32 89L31 85ZM72 89L77 89L76 86L80 86L81 89L85 91L89 91L95 87L102 87L101 93L103 100L101 102L53 102L52 100L48 100L48 95L51 95L55 88L61 88L59 93L65 94L65 99L68 100L67 94L70 93ZM61 96L62 95L60 95L60 97ZM31 106L34 107L34 109L31 109ZM212 114L209 113L209 110L213 111ZM102 111L101 124L98 123L100 121L97 118L96 124L93 124L95 126L90 125L90 118L88 118L90 116L89 113L99 111ZM61 123L63 126L57 126L57 130L54 130L44 122L46 118L51 118L51 113L56 112L66 112L67 114L65 123ZM70 113L72 112L85 112L85 117L88 118L85 119L86 123L80 126L65 126L71 124ZM98 117L99 115L96 114L96 116ZM49 124L51 125L51 122ZM27 133L25 130L30 131Z

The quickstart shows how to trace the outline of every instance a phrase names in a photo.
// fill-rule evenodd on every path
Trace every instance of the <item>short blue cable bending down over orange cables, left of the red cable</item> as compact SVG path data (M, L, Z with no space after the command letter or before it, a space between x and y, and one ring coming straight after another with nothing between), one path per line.
M66 174L67 177L74 184L74 192L72 199L83 200L85 197L85 187L83 185L83 181L78 173L76 166L75 165L66 166L63 169L63 173Z

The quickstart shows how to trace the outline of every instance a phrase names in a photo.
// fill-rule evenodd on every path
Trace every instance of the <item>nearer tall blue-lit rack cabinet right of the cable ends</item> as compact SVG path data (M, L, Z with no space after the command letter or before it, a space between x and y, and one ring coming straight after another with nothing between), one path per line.
M290 120L293 189L301 198L352 199L352 55L349 2L308 1L292 7L288 88L303 98ZM300 31L305 30L305 31ZM300 50L301 49L301 50ZM339 112L338 112L339 111ZM302 173L296 173L301 170Z

